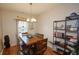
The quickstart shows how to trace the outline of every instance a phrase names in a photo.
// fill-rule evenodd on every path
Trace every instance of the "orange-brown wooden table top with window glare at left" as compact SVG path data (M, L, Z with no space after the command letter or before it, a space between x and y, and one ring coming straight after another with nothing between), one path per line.
M37 37L35 35L32 35L31 38L28 38L26 35L20 35L20 38L27 45L31 45L31 44L36 43L39 40L42 40L42 38L39 38L39 37Z

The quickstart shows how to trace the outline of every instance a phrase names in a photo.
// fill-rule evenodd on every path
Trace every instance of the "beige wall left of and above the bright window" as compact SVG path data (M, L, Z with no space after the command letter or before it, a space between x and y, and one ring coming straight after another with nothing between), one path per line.
M2 27L3 27L3 36L9 35L10 36L10 44L11 46L16 45L16 17L29 17L27 14L15 12L15 11L8 11L2 10ZM34 30L33 30L34 31ZM29 30L32 33L32 30ZM3 39L4 41L4 39Z

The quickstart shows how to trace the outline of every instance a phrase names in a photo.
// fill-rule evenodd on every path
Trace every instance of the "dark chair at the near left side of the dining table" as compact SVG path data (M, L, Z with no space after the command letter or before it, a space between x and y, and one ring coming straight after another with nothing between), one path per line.
M18 44L18 55L32 55L33 51L31 49L31 45L26 45L21 38L17 38L17 44Z

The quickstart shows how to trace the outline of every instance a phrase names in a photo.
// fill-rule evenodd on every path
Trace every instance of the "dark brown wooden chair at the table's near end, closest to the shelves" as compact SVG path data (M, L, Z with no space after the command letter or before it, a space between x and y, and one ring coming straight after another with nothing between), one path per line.
M46 51L47 49L47 38L46 39L43 39L43 40L39 40L37 43L36 43L36 55L43 55L44 52Z

